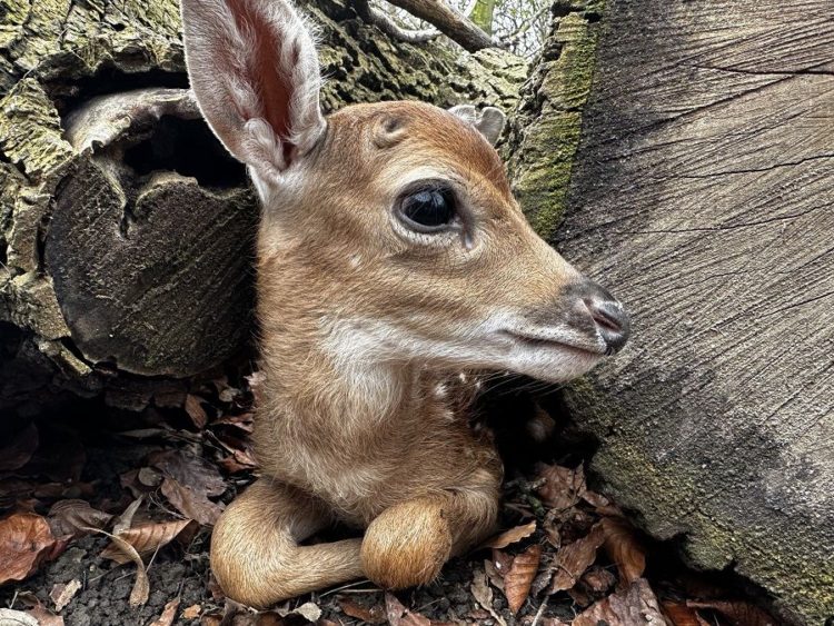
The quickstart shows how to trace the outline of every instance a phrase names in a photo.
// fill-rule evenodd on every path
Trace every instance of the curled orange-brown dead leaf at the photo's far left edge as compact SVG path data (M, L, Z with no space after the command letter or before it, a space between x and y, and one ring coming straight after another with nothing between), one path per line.
M0 520L0 585L22 580L42 562L58 556L64 545L40 515L18 513Z

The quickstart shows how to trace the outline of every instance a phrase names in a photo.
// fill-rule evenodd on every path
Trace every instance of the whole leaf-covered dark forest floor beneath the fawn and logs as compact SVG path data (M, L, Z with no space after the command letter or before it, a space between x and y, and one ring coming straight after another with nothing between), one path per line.
M0 625L780 624L732 573L689 570L674 544L636 530L588 486L593 443L512 384L479 405L507 467L506 531L425 588L360 580L267 612L238 605L214 580L208 547L222 507L257 475L252 387L257 375L217 376L160 389L141 410L89 400L4 424ZM539 401L560 414L558 395Z

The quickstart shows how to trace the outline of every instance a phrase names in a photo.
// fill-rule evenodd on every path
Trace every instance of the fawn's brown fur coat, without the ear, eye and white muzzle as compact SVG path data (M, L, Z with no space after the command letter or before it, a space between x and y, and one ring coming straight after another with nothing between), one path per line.
M386 588L426 584L495 527L500 461L438 391L447 367L466 364L399 358L396 345L368 359L351 342L361 338L339 341L339 324L441 340L496 307L553 308L578 280L530 230L495 150L448 112L350 107L308 159L258 241L264 477L224 514L211 547L226 593L256 606L361 575ZM459 181L475 250L418 247L391 229L400 180L426 165ZM334 520L367 528L365 538L298 545Z

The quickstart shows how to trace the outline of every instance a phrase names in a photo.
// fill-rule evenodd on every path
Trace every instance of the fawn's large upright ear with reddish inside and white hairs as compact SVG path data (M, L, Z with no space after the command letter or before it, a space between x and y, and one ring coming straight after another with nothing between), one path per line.
M182 0L197 103L237 159L280 180L325 131L312 37L286 0Z

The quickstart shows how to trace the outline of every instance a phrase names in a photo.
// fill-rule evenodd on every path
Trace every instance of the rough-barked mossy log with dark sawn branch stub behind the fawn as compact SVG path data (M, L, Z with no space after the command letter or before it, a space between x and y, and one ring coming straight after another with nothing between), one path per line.
M327 110L517 100L526 63L507 52L395 43L336 0L305 9L321 29ZM98 393L221 364L254 334L258 209L189 101L178 3L3 11L0 350L19 375L0 408L44 381Z

